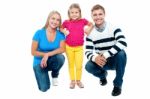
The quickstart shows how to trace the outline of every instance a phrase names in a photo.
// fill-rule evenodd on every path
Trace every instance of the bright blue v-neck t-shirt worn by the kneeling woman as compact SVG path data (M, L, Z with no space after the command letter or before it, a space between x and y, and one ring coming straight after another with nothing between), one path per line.
M46 29L41 29L35 32L33 39L38 42L38 51L49 52L60 47L60 42L65 39L65 35L59 30L56 30L56 36L54 41L48 41L46 36ZM33 66L41 63L42 57L34 56Z

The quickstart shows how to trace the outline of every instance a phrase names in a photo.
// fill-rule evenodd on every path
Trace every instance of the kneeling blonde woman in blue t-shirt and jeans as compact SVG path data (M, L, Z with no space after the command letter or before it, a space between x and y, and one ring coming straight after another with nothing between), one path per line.
M59 70L65 61L65 57L62 55L65 51L65 36L58 29L60 25L60 13L52 11L45 26L33 36L31 48L34 56L33 70L38 88L43 92L50 88L48 71L52 71L52 83L57 86Z

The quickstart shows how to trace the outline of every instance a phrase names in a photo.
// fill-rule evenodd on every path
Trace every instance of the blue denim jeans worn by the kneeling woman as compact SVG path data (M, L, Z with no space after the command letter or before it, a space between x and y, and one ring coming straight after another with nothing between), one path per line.
M45 92L50 88L51 83L48 71L52 71L52 78L57 78L59 75L59 70L63 66L64 61L65 57L62 54L57 54L48 58L46 68L41 68L40 64L33 67L38 88L40 91Z

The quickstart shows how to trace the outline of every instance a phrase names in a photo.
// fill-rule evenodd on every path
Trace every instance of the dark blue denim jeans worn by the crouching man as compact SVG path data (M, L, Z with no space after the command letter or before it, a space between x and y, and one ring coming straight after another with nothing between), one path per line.
M126 61L126 53L124 50L122 50L113 57L109 57L104 67L98 66L95 62L88 61L86 63L85 69L89 73L93 74L94 76L100 79L106 78L107 70L116 70L116 77L113 81L113 84L114 86L121 88L123 83L123 75L125 72Z

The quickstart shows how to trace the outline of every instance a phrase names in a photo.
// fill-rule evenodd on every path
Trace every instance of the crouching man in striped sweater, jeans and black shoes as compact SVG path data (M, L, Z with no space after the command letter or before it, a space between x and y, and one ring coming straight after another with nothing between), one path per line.
M115 70L112 96L121 94L123 75L126 66L127 47L122 30L105 21L105 9L95 5L92 10L92 19L95 26L86 38L86 52L88 58L85 69L100 78L102 86L107 84L107 70Z

